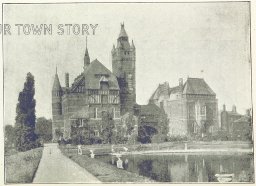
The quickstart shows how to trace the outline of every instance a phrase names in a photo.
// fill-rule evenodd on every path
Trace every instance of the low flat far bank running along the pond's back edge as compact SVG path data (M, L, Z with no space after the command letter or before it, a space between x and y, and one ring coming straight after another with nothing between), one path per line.
M126 152L124 150L126 148ZM81 146L82 154L107 155L112 153L122 154L157 154L157 153L253 153L253 143L244 141L212 141L212 142L165 142L152 144L98 144ZM65 152L69 155L77 154L77 146L66 145Z

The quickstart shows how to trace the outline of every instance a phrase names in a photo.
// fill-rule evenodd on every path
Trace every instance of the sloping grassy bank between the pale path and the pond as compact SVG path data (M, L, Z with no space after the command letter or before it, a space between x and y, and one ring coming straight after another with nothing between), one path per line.
M98 178L101 182L119 182L119 183L146 183L154 182L150 178L140 176L136 173L131 173L122 169L118 169L112 165L101 162L96 159L91 159L87 155L70 154L65 147L60 147L62 153L76 162L81 167L85 168L92 175Z

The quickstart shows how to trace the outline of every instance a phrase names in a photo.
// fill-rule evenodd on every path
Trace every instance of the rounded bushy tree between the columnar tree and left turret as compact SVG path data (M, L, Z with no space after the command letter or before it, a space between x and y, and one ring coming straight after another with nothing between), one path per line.
M40 141L50 142L52 140L52 120L45 117L38 118L35 131Z

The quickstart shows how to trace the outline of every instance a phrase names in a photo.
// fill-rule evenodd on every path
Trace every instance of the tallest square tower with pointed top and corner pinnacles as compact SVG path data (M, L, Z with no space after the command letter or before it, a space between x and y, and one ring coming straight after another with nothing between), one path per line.
M121 24L121 31L117 38L117 45L113 45L112 69L120 87L121 114L133 112L136 103L136 50L132 41L129 43L128 35Z

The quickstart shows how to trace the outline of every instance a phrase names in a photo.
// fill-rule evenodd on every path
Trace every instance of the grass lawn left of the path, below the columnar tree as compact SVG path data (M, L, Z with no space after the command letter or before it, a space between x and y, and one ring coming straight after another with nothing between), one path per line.
M32 183L43 148L5 156L6 183Z

